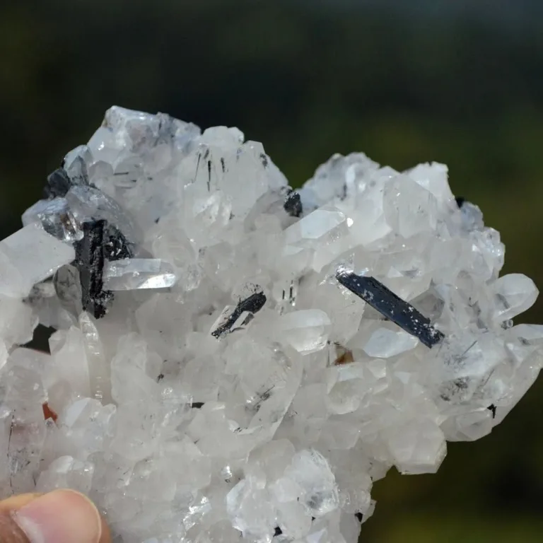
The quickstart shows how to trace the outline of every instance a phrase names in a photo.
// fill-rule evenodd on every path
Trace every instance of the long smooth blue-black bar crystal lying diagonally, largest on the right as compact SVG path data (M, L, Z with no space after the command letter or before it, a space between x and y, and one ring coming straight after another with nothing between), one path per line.
M445 337L442 332L433 327L428 318L419 313L411 304L396 296L377 279L345 270L337 271L336 279L372 308L378 310L381 315L395 322L412 336L419 338L427 347L433 347Z

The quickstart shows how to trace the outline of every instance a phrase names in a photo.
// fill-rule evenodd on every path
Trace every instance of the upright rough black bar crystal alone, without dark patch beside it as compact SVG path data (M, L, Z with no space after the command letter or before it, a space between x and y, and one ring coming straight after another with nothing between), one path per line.
M83 239L76 245L76 267L81 280L83 310L95 318L103 317L106 305L112 299L110 291L104 291L102 275L105 265L104 242L107 239L107 221L83 223Z

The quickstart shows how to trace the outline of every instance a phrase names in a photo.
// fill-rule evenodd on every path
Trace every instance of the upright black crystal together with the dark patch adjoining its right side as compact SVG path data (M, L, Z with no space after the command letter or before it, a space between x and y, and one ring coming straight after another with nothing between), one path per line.
M81 225L83 239L76 243L76 267L81 281L83 310L95 318L103 317L113 293L104 290L105 261L132 256L132 247L124 235L107 221L86 221Z

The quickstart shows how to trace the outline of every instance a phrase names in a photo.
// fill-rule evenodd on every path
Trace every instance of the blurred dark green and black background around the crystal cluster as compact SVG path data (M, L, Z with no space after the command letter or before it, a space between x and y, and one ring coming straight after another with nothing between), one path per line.
M542 0L3 3L2 237L113 104L238 126L294 186L337 151L447 163L504 271L543 289ZM391 472L375 497L362 542L543 542L543 379L439 474Z

